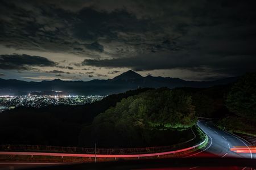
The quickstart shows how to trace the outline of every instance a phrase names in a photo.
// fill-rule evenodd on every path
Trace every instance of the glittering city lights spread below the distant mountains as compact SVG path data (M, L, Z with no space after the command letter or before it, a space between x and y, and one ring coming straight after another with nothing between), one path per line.
M47 107L49 105L83 105L99 101L105 96L82 96L82 95L22 95L0 96L0 112L15 107Z

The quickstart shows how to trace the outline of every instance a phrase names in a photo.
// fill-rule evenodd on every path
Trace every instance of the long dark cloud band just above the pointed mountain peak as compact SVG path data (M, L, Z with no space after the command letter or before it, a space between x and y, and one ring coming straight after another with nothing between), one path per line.
M184 54L148 54L132 58L85 59L82 65L96 67L127 67L135 71L159 69L187 69L191 71L214 71L225 74L241 74L255 70L254 56L204 55L197 52Z

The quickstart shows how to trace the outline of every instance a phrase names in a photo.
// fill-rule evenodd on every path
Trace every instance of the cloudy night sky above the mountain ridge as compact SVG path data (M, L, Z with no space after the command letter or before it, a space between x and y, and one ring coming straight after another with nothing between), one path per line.
M254 1L0 1L0 78L214 80L256 70Z

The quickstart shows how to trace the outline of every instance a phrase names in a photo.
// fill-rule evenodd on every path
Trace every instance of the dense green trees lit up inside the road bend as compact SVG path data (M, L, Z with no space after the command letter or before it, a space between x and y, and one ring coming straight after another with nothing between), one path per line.
M195 123L195 110L190 96L182 90L151 90L122 99L115 108L99 114L93 124L102 122L122 122L140 128L152 124L192 126Z

